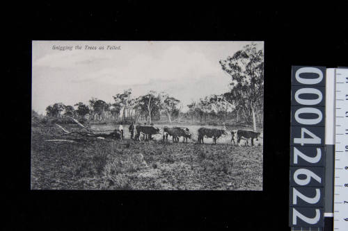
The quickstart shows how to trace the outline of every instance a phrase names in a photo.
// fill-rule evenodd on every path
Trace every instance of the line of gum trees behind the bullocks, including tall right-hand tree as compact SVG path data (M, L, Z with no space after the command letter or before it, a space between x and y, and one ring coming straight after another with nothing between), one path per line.
M132 89L113 96L112 103L92 98L88 105L79 102L72 105L54 103L46 108L48 117L81 118L89 116L90 120L164 120L171 123L175 119L191 119L205 121L217 119L228 120L233 117L237 121L253 124L262 122L264 91L263 51L255 44L244 46L232 56L219 61L223 71L230 76L230 91L224 94L212 94L187 105L189 110L182 111L179 99L166 92L150 91L148 94L132 97Z

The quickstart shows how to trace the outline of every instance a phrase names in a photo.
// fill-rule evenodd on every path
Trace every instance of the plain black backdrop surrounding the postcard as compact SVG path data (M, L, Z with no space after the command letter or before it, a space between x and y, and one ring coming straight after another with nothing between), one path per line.
M13 81L5 87L11 129L1 130L11 150L3 160L6 230L290 230L291 66L347 67L347 3L15 4L3 7ZM31 40L264 41L264 190L31 191Z

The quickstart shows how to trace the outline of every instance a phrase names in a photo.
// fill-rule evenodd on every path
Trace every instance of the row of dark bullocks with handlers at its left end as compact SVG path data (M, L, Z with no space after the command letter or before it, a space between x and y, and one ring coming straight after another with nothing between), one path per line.
M136 135L134 136L134 130L136 130ZM120 139L123 138L123 127L122 124L119 127ZM173 142L178 143L180 137L183 138L183 143L187 143L188 139L191 139L192 135L189 132L189 128L184 127L173 127L169 128L165 126L163 128L163 132L160 128L155 128L151 123L150 126L137 125L134 127L134 123L129 126L129 132L131 133L131 139L141 140L141 135L143 135L143 140L148 139L149 141L152 139L152 135L163 134L163 140L168 140L168 136L173 137ZM250 130L230 130L229 131L232 139L231 143L236 144L235 138L237 139L237 144L240 146L241 139L246 140L246 145L248 146L248 140L251 140L251 146L254 145L254 139L258 140L260 137L260 132L253 132ZM198 129L198 144L204 144L203 139L205 137L209 137L213 139L213 144L216 144L216 139L219 137L226 137L228 135L228 130L225 127L224 129L217 128L199 128Z

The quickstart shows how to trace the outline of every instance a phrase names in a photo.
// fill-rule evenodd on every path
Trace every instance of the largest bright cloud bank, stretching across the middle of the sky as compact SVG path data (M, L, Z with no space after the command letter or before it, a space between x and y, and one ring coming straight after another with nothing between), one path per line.
M99 70L89 71L74 81L93 80L111 85L145 85L154 80L180 81L212 76L219 69L219 64L210 62L203 53L188 52L179 46L171 46L156 58L140 53L131 58L126 65L118 65L116 62Z

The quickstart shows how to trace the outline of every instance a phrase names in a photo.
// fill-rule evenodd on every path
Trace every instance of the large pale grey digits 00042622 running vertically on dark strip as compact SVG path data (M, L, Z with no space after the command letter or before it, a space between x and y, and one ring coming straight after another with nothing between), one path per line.
M301 77L301 74L310 75L310 78L303 78ZM322 139L319 137L313 130L310 130L310 127L308 126L316 126L318 123L321 123L324 119L324 115L322 114L322 111L318 108L314 108L316 105L322 102L324 99L323 93L315 87L317 83L321 83L324 78L324 73L321 69L318 69L316 67L301 67L296 70L295 72L295 79L297 83L301 83L303 87L296 90L294 93L294 100L296 101L296 104L299 104L300 107L296 107L296 112L292 115L292 124L296 121L297 124L301 126L301 135L300 137L293 137L293 144L294 145L301 145L301 146L307 146L311 145L313 147L313 152L316 151L316 153L303 153L299 151L299 148L296 148L294 146L293 148L293 163L292 165L298 164L299 157L301 157L302 160L306 161L307 164L302 164L301 168L297 169L296 171L290 171L292 176L290 176L293 179L293 185L290 188L292 189L292 209L290 210L290 213L292 213L292 221L290 221L291 226L298 226L301 225L303 227L306 227L306 224L309 225L318 225L319 221L322 220L321 217L321 211L316 207L296 207L298 198L306 202L308 205L315 206L319 200L321 199L322 195L320 194L321 189L320 188L307 188L306 191L311 194L311 196L306 196L303 193L300 192L300 189L303 189L303 187L308 187L310 185L313 185L313 181L317 182L317 184L323 183L324 176L321 176L320 174L316 174L313 172L313 168L311 168L311 164L315 164L322 160L322 152L321 148L316 148L315 146L321 146ZM298 88L298 87L297 87ZM307 96L310 95L310 99L303 99L300 96ZM303 115L310 114L310 117L303 118ZM301 117L302 115L302 117ZM313 117L314 116L314 117ZM306 128L302 127L306 126ZM299 135L299 134L298 134ZM313 155L315 154L315 155ZM303 163L303 162L302 162ZM308 166L308 167L307 167ZM324 175L324 174L323 174ZM292 180L290 180L292 181ZM305 190L302 190L305 191ZM303 204L302 204L303 205ZM306 206L308 206L306 205ZM291 206L291 204L290 204ZM315 215L313 217L313 212L315 212ZM321 226L321 225L318 225Z

